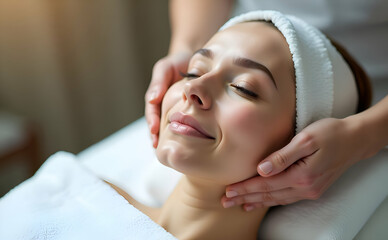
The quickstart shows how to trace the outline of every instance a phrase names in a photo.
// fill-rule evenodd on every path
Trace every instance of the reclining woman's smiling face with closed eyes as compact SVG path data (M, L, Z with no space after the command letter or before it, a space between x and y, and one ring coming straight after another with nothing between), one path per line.
M188 76L162 103L159 160L183 174L228 185L294 133L295 84L283 35L264 22L215 34L190 60Z

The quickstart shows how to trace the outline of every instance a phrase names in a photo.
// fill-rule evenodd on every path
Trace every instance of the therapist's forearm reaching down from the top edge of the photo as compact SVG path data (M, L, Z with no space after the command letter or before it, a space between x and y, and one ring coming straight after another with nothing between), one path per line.
M228 19L233 0L171 0L169 53L194 52Z

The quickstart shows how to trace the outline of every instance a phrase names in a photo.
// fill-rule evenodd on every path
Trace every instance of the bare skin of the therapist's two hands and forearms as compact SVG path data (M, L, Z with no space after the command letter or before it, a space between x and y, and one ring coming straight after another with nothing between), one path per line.
M145 116L154 147L158 145L160 108L167 89L180 80L179 71L186 72L191 54L228 19L233 2L170 1L170 51L154 65L145 95ZM224 196L222 203L229 200L254 208L317 199L350 166L388 145L387 122L388 97L362 113L315 122L284 148L258 159L270 162L271 171L265 173L256 166L261 176L228 186L225 191L230 198Z

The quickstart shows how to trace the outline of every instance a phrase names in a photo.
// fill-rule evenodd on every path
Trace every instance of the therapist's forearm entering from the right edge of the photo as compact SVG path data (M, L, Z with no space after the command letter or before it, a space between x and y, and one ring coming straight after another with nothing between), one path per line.
M360 143L359 149L362 149L360 159L371 157L388 145L388 96L366 111L345 120L357 129L354 137Z

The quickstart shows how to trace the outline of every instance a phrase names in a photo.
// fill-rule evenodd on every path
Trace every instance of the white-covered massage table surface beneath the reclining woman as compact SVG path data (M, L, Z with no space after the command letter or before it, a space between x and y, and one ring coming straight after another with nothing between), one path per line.
M100 178L160 206L180 173L160 164L143 118L77 155ZM352 166L320 199L270 209L258 239L388 239L388 149Z

